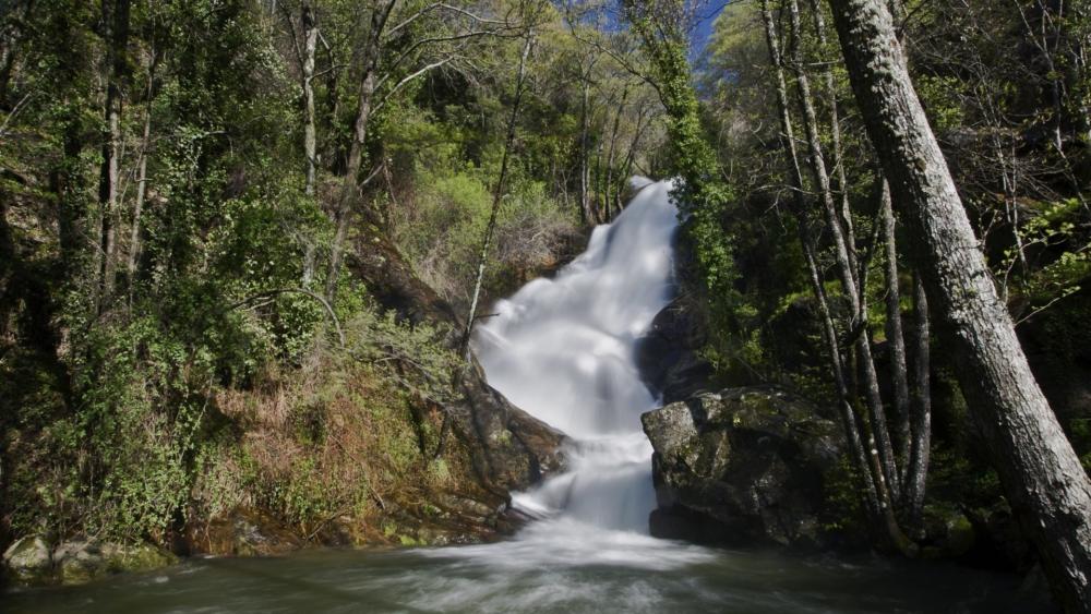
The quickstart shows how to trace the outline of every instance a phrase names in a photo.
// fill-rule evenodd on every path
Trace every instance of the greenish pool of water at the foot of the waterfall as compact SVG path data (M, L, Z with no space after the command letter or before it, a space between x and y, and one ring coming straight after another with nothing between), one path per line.
M562 523L561 526L558 522ZM20 613L1034 613L1015 576L880 557L714 550L547 520L489 545L196 558L0 598ZM558 540L556 534L564 539Z

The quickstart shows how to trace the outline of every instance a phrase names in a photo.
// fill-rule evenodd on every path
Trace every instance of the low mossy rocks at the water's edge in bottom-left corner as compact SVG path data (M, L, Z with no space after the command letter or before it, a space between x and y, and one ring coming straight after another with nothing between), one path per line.
M20 585L82 585L112 574L151 571L177 562L177 556L149 543L76 539L51 547L40 535L15 541L3 555L7 578Z

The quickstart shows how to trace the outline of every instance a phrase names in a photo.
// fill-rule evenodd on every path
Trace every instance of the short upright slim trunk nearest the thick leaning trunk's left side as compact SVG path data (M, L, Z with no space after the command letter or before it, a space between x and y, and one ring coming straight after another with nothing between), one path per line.
M913 275L913 315L915 324L913 351L913 420L910 424L912 443L906 474L906 513L911 528L920 528L924 513L924 489L932 452L932 382L931 334L928 330L928 298L921 276Z

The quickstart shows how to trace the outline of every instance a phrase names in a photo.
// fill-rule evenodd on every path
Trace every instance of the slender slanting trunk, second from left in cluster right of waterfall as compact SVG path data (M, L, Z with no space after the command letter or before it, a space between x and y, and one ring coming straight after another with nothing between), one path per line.
M864 309L864 294L866 290L856 280L856 264L849 244L854 243L851 234L846 236L846 229L841 226L841 217L838 214L837 205L834 201L834 192L829 184L829 173L826 169L826 160L823 155L822 140L818 135L818 119L815 113L814 101L811 96L811 84L807 79L803 63L803 32L800 25L800 5L798 0L788 0L789 16L792 27L792 68L795 72L795 82L799 87L800 105L803 108L803 125L807 133L807 146L811 151L811 169L814 173L815 183L818 186L823 208L826 212L826 221L834 239L834 253L837 260L838 272L840 273L841 285L853 311L853 336L856 348L856 357L864 386L865 400L871 419L872 434L875 436L875 450L879 455L883 463L883 473L889 490L897 495L900 492L898 466L895 461L894 446L890 443L890 432L887 428L886 410L883 407L883 397L879 395L878 375L875 372L875 362L872 359L871 335L867 329L867 310Z

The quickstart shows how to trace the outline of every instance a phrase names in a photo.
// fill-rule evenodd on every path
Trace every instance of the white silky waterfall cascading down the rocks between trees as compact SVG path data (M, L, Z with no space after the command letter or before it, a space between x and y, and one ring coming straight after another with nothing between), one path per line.
M555 278L500 301L473 349L490 385L573 440L568 471L514 504L568 527L647 533L656 495L640 414L657 399L635 348L674 291L678 212L670 183L633 182L640 191L614 222Z

